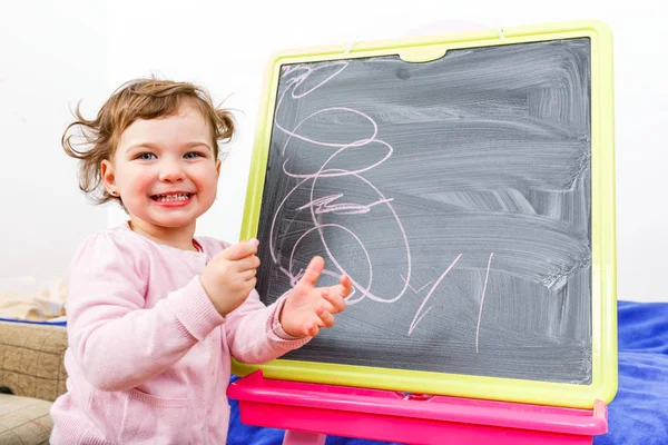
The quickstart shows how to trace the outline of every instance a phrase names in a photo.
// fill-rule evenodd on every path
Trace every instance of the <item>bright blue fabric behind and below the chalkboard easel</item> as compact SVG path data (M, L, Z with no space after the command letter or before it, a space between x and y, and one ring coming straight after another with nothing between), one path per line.
M593 445L668 444L668 303L618 304L619 389L608 407L608 433ZM233 382L238 377L233 376ZM232 405L228 444L279 445L282 429L239 422ZM345 432L342 428L342 434ZM326 445L372 445L386 442L327 436Z

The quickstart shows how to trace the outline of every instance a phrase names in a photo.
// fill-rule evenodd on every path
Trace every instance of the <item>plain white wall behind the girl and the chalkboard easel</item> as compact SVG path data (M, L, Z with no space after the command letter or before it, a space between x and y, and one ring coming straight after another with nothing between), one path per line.
M239 110L236 113L239 134L223 167L218 201L202 219L198 233L234 241L242 221L262 76L273 52L466 27L497 28L592 18L607 22L615 37L618 296L668 301L668 293L660 281L666 264L662 253L668 250L668 234L662 229L668 215L661 194L666 189L662 174L668 162L662 149L668 136L668 89L664 83L668 66L664 46L668 42L668 30L662 23L668 7L665 3L659 0L616 6L609 1L582 0L551 3L487 0L466 4L412 0L395 6L387 4L386 0L315 3L283 1L261 6L258 1L213 0L107 0L95 7L84 1L68 3L68 27L73 27L80 36L87 33L85 49L106 43L106 60L88 59L88 56L85 59L82 55L88 51L62 44L72 39L62 33L67 28L63 23L55 23L59 18L62 20L65 12L57 11L60 16L43 12L40 27L33 26L35 18L26 14L0 19L0 23L13 23L10 36L30 41L21 43L10 58L10 72L13 77L32 76L41 92L39 98L30 100L20 96L12 98L12 103L20 105L22 112L29 115L30 123L17 120L12 117L13 108L8 108L2 96L9 80L4 65L0 65L0 79L6 79L6 85L0 82L0 116L2 121L8 117L13 119L10 125L0 123L3 125L0 147L3 154L11 155L0 164L2 188L21 190L19 196L10 194L8 200L11 210L7 214L12 219L0 218L4 229L0 235L3 253L0 276L33 270L58 273L63 265L53 264L52 259L66 258L73 249L75 239L99 227L99 209L89 208L77 197L71 162L58 151L59 131L67 121L66 101L73 103L82 98L85 105L99 106L101 98L121 82L151 72L197 81L218 100L229 96L226 105ZM1 32L0 37L4 38L7 31ZM40 47L45 41L47 46ZM55 90L48 81L52 76L48 71L62 69L72 60L72 71L59 73L60 87ZM21 63L28 63L30 72L23 73ZM104 85L97 75L88 72L101 70L105 70ZM33 86L27 80L13 81L23 87ZM41 85L43 82L46 85ZM52 113L43 116L33 109L36 103L42 103ZM20 126L26 130L19 130ZM30 138L22 131L29 131ZM12 150L16 141L21 141L23 150L27 147L39 150L39 156L26 151L17 154ZM10 169L6 167L9 159L12 159ZM45 187L48 187L49 198ZM119 210L109 209L110 224L122 217ZM26 243L28 234L35 239L30 244ZM4 249L7 244L9 250ZM43 258L47 246L52 246L53 253ZM37 258L28 260L30 257Z

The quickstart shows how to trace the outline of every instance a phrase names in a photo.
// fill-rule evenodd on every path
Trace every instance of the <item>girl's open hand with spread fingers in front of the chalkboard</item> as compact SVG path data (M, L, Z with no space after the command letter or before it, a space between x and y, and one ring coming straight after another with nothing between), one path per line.
M336 286L315 287L324 268L325 260L314 257L302 279L285 297L278 320L286 334L315 336L321 327L334 326L334 314L345 309L345 298L353 289L351 279L342 275Z

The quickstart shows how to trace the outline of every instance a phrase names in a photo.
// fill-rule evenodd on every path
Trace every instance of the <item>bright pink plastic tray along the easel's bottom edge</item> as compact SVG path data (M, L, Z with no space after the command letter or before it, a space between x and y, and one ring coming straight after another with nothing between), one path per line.
M608 408L593 411L405 395L391 390L265 379L233 383L242 422L288 429L284 444L315 445L324 435L412 444L583 445L608 431ZM320 441L320 442L318 442Z

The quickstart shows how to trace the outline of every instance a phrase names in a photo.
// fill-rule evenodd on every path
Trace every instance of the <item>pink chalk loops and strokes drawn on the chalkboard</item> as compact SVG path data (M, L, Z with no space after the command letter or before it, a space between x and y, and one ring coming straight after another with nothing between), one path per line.
M322 108L322 109L306 116L304 119L302 119L302 121L299 121L296 126L294 126L293 129L287 129L284 125L282 125L278 121L278 116L281 116L279 110L283 108L283 105L284 105L286 98L291 98L293 100L299 100L299 99L313 93L314 91L316 91L317 89L322 88L324 85L330 82L332 79L334 79L336 76L338 76L341 72L343 72L347 66L348 66L347 61L334 61L331 63L321 65L316 68L311 68L307 66L293 66L293 67L288 67L288 68L284 69L283 73L282 73L282 79L286 79L285 80L286 88L281 93L281 96L278 97L278 100L276 102L276 110L274 113L274 116L275 116L274 126L276 129L278 129L279 131L287 135L287 140L283 145L282 150L281 150L281 156L283 156L285 158L283 161L283 174L291 178L297 179L298 182L292 189L289 189L287 191L287 194L283 197L282 201L278 204L278 206L274 212L271 228L269 228L269 254L271 254L273 263L278 267L278 270L282 274L284 274L289 279L291 285L294 286L294 285L296 285L296 283L298 281L298 279L302 277L302 275L304 273L303 269L294 270L294 268L295 268L295 263L294 263L295 258L294 257L295 257L297 247L301 245L301 243L307 236L310 236L312 234L317 235L320 237L320 241L326 253L326 256L327 256L330 263L333 264L336 269L336 270L331 270L331 269L326 268L323 271L323 274L326 276L335 277L335 278L338 277L340 274L345 274L351 278L351 281L353 283L354 289L353 289L353 294L347 299L348 305L357 304L357 303L364 300L365 298L369 298L376 303L392 304L392 303L395 303L399 299L401 299L406 294L407 289L412 290L416 295L416 294L420 294L420 291L422 291L422 289L424 289L432 283L434 283L434 281L430 281L429 284L422 286L419 290L415 290L415 288L413 286L411 286L411 274L412 274L411 247L409 244L406 231L401 221L401 218L399 217L394 207L392 206L393 198L385 197L377 189L377 187L375 187L371 181L369 181L365 177L362 176L363 172L374 169L374 168L381 166L387 159L390 159L390 157L392 157L392 154L393 154L392 146L377 138L379 126L373 120L373 118L371 118L369 115L366 115L360 110L355 110L353 108L347 108L347 107ZM312 76L314 72L317 72L318 70L322 70L325 68L327 68L327 69L334 68L335 71L332 75L330 75L328 77L326 77L324 80L317 82L315 86L306 89L305 82L310 78L310 76ZM365 138L355 139L355 140L351 140L348 142L343 144L343 142L335 142L335 141L328 141L328 140L316 140L313 137L307 137L299 132L301 128L310 119L320 118L323 115L332 113L332 112L351 113L351 115L355 115L356 118L361 118L362 121L365 123L364 123L364 126L358 127L358 129L369 127L369 135ZM315 147L335 148L336 151L334 154L332 154L324 161L324 164L322 166L317 167L314 171L311 171L311 172L289 171L287 169L289 158L286 158L285 154L286 154L286 149L288 148L291 142L293 142L294 140L301 140L303 142L307 142ZM380 160L375 161L374 164L365 165L365 166L356 166L352 170L330 167L331 164L333 164L333 161L337 157L340 157L342 154L345 154L346 150L350 150L353 148L364 148L364 147L370 146L371 144L381 145L385 149L385 155ZM343 192L328 195L328 196L325 196L322 198L314 197L314 191L316 189L316 184L318 180L322 180L324 178L338 178L338 177L350 177L350 178L360 180L362 182L362 187L369 187L369 189L372 190L373 194L377 196L377 199L374 199L370 204L346 202L345 195ZM281 263L281 260L278 258L278 254L277 254L276 236L275 236L276 225L277 225L277 220L278 220L278 215L281 214L282 209L285 208L287 200L291 198L291 196L293 196L293 194L295 194L296 190L298 190L301 188L307 188L307 190L310 191L310 198L306 202L298 205L298 207L296 207L295 210L296 211L308 211L311 214L310 222L312 224L312 227L303 230L301 236L297 238L295 244L292 246L292 251L289 253L289 260L288 260L287 265L284 265ZM404 281L404 285L401 289L399 289L396 295L393 295L390 297L387 297L387 296L382 297L379 295L374 295L371 291L371 287L372 287L373 278L374 278L373 264L372 264L369 250L365 247L363 240L355 233L353 233L351 229L348 229L347 227L345 227L341 224L324 224L324 222L321 222L317 218L318 215L323 215L323 214L348 215L348 216L367 214L371 211L372 208L377 207L377 206L381 206L381 207L384 206L392 214L392 217L396 224L399 233L401 234L401 241L403 243L404 254L405 254L405 265L406 265L405 266L406 267L405 275L400 274L402 280ZM366 270L362 270L362 269L364 269L364 267L361 267L361 265L356 266L355 273L351 273L350 270L346 270L343 267L343 265L340 264L336 256L332 253L330 246L327 245L327 241L324 236L324 229L342 230L342 231L346 233L362 250L364 258L365 258L365 263L366 263ZM422 300L422 304L420 305L418 312L415 313L413 320L411 322L411 325L407 330L409 336L411 336L413 334L418 324L420 324L420 322L433 308L433 305L432 305L426 310L423 312L424 306L426 305L428 300L432 297L436 287L441 284L441 281L445 278L445 276L450 273L450 270L459 261L459 259L462 257L462 255L463 254L460 254L459 256L456 256L454 258L454 260L450 264L450 266L445 269L445 271L443 271L441 274L441 276L432 285L431 289L429 290L429 293ZM490 261L491 261L492 256L493 256L493 254L490 255ZM488 276L489 276L489 267L490 267L490 263L488 263ZM362 274L362 273L365 273L365 276L366 276L365 283L360 283L360 279L357 278L360 276L360 274ZM483 288L482 299L484 299L485 289L487 289L487 277L485 277L485 284L484 284L484 288ZM481 314L482 314L482 301L481 301L480 315ZM479 319L478 319L478 332L480 330L480 315L479 315ZM475 350L478 352L478 334L475 336Z

